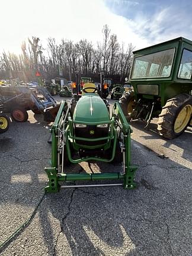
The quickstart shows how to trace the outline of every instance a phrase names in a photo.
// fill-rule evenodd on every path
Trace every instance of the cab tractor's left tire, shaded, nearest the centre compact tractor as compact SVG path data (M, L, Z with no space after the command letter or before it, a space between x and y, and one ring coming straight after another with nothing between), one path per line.
M123 114L127 120L131 119L131 114L135 107L135 95L133 91L129 91L122 95L119 100L119 104L123 110Z

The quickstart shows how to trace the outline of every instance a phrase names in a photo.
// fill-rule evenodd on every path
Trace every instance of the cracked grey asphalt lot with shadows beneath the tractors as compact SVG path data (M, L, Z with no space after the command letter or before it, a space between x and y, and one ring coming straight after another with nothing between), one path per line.
M156 134L156 120L149 130L132 123L136 190L66 188L44 195L51 126L28 114L26 123L12 121L0 135L1 255L192 255L192 128L165 140ZM120 169L94 162L66 171Z

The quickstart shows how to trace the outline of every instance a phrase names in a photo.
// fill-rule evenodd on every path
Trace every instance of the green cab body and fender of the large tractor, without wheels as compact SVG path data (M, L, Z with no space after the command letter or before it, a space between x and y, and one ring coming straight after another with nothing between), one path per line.
M158 59L156 59L156 62L154 60L153 62L147 61L149 59L149 55L155 54L155 53L161 54L164 51L165 53L167 53L166 51L170 49L173 49L174 51L172 65L171 63L168 63L168 60L166 60L166 57L168 56L168 54L165 55L165 58L163 59L164 62L160 62L160 61L158 62ZM178 78L178 74L180 71L181 57L183 55L184 49L192 51L192 41L184 39L183 37L179 37L174 40L166 41L164 43L156 44L155 46L147 47L145 49L141 49L133 52L134 59L133 59L132 70L130 72L129 83L134 88L136 99L143 97L143 98L154 100L157 97L160 97L161 105L164 106L169 98L172 98L182 93L190 94L190 91L192 89L191 78L190 79L184 79L184 77ZM139 62L139 59L142 59L143 61L140 60ZM146 60L146 62L144 60ZM136 61L139 63L138 65L136 65ZM166 63L169 64L170 66L169 68L171 68L171 70L168 68L168 66L166 66ZM138 78L138 77L134 78L134 73L141 72L142 74L142 70L146 70L146 74L148 74L147 75L148 78ZM165 74L166 70L170 71L170 74L168 76L166 76ZM164 76L149 77L150 75L152 76L155 73L155 71L156 73L159 72L159 76L162 76L162 75ZM147 95L139 94L137 90L137 85L143 85L143 86L158 85L159 93L157 96L150 95L150 93L148 93Z

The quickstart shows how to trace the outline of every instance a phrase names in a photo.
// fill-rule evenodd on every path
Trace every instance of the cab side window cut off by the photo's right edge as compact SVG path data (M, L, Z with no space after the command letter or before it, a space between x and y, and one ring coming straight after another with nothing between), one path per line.
M192 52L184 49L181 58L180 69L178 72L178 78L191 79L192 72Z

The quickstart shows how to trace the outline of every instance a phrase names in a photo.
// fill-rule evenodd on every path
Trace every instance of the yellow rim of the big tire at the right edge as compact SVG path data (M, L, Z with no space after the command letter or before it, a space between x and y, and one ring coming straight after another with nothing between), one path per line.
M191 113L192 113L191 105L185 105L185 107L182 108L182 110L177 116L177 119L175 120L175 124L174 124L175 133L180 133L185 129L188 122L190 121Z

